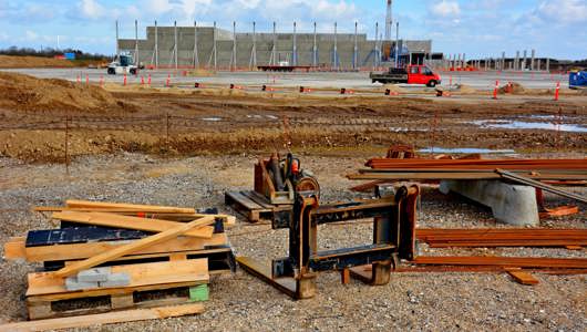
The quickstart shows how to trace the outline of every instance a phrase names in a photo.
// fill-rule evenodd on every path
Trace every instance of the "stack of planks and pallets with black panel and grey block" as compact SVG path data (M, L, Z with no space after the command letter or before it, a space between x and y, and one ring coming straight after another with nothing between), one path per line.
M30 230L4 245L7 259L43 262L44 271L28 276L31 320L207 300L209 274L235 269L225 234L233 216L84 200L34 210L51 212L61 227ZM54 309L97 298L104 305Z

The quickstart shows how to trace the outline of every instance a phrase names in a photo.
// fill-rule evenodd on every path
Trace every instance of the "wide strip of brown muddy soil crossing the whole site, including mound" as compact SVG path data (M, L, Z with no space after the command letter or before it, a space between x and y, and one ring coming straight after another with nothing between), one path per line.
M484 128L475 122L587 125L587 98L511 96L478 102L379 95L261 94L228 89L75 84L0 74L0 155L62 162L68 155L298 151L353 154L390 144L587 152L577 132ZM557 116L563 116L558 118ZM65 122L65 116L70 120ZM65 139L68 132L68 139Z

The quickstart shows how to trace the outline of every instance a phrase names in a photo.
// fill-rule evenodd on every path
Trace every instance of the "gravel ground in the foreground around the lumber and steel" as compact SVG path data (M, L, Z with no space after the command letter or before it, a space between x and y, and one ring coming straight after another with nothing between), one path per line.
M343 175L362 166L364 158L301 156L302 166L318 176L322 201L357 197ZM215 156L155 159L137 154L76 159L65 175L63 165L22 164L0 158L0 241L29 229L50 228L34 205L61 205L68 198L102 199L190 207L224 206L224 191L253 186L255 156ZM585 190L577 190L585 193ZM569 204L547 196L549 205ZM571 217L544 220L544 227L587 227L585 206ZM251 226L240 219L229 230L238 255L269 260L287 253L285 230ZM422 227L505 227L483 207L424 188L419 214ZM370 227L326 226L321 248L370 241ZM422 248L425 255L466 250ZM585 250L476 249L468 252L506 256L583 257ZM25 273L39 267L24 262L0 264L0 321L25 319ZM587 329L585 276L535 274L540 283L526 287L505 273L398 273L383 287L357 281L340 284L339 274L321 273L318 295L292 301L243 271L214 277L207 311L197 317L109 325L109 331L275 331L275 330L563 330ZM93 328L101 331L104 328Z

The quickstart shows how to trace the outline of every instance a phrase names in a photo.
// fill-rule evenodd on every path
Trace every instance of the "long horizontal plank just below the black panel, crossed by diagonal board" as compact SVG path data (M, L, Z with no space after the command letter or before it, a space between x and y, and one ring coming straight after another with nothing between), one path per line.
M24 258L28 261L60 261L86 259L96 252L103 252L127 245L128 241L104 241L87 243L71 243L58 246L29 247L24 249ZM199 239L194 237L178 237L162 243L155 243L128 256L157 255L182 251L202 250L206 246L224 246L228 243L226 234L215 234L212 239Z

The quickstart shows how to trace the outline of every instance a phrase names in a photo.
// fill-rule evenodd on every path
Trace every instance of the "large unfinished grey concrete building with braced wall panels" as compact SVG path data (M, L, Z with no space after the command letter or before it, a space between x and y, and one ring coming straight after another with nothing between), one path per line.
M234 31L234 30L233 30ZM259 65L359 70L395 60L395 41L364 33L235 33L214 27L147 27L146 39L120 39L121 53L158 68L254 69ZM430 59L432 41L400 40L402 63ZM135 56L136 54L136 56Z

